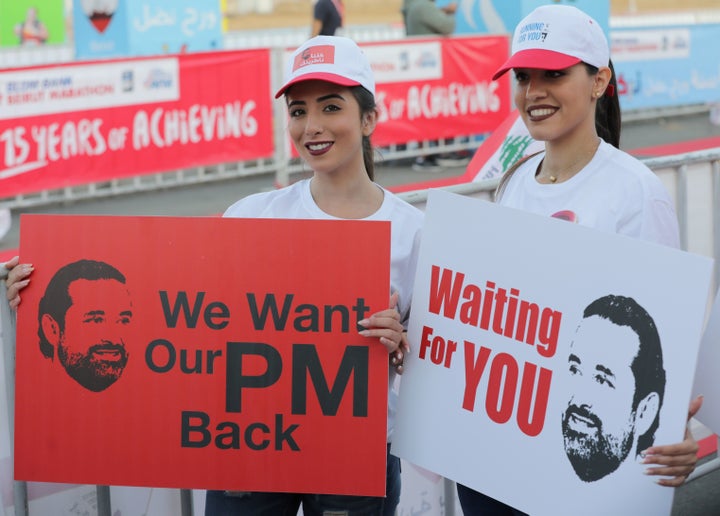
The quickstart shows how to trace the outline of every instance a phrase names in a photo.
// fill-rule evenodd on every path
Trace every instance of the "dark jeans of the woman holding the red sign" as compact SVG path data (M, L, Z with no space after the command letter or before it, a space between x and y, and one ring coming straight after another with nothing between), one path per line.
M388 446L386 496L208 491L205 516L393 516L400 503L400 459Z

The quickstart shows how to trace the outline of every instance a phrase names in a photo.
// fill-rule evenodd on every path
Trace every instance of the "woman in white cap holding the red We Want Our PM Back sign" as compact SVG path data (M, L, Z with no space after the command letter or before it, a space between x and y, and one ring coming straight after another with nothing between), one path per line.
M390 443L397 404L392 385L396 369L401 371L402 367L403 331L409 317L423 214L373 181L370 135L378 119L375 80L369 61L355 42L335 36L307 41L288 62L286 80L276 98L283 95L289 114L288 132L300 157L313 170L312 177L241 199L224 216L391 222L389 308L360 321L368 328L361 335L379 337L395 366L389 368ZM384 498L209 491L205 513L294 515L302 505L306 516L394 515L400 500L400 461L389 454L389 449L388 445Z

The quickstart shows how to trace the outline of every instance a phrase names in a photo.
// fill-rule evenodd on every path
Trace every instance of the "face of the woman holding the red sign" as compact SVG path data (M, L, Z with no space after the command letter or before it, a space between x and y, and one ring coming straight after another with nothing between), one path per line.
M319 173L363 171L363 136L375 114L361 116L350 88L319 80L293 85L286 93L290 138L300 157Z

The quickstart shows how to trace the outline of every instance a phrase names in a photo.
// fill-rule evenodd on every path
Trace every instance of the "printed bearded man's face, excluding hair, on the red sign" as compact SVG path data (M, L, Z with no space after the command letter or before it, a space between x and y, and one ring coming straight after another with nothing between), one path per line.
M125 336L132 320L130 295L114 279L75 280L68 294L72 304L65 313L64 328L60 330L57 321L45 315L43 331L68 375L99 392L120 378L128 362Z

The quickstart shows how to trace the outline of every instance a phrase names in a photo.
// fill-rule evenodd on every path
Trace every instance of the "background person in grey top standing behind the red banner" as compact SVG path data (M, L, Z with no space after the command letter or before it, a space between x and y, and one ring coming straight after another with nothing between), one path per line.
M449 36L455 32L457 4L438 7L434 0L403 0L402 15L408 36ZM462 166L470 161L469 153L429 154L418 157L413 170L440 172L442 167Z

